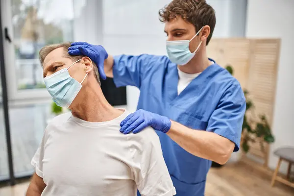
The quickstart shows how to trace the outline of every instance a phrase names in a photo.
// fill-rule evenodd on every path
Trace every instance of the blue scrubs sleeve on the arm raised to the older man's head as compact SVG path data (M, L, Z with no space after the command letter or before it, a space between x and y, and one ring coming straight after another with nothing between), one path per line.
M141 81L154 57L154 55L148 54L114 56L113 80L115 85L117 87L130 85L140 88Z

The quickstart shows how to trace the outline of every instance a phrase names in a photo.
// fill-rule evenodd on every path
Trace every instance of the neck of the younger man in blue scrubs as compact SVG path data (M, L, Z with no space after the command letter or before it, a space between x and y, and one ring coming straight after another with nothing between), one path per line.
M204 44L204 43L202 43ZM184 73L200 73L203 72L208 66L211 65L206 54L206 48L200 47L196 51L195 56L184 66L178 66L179 70Z

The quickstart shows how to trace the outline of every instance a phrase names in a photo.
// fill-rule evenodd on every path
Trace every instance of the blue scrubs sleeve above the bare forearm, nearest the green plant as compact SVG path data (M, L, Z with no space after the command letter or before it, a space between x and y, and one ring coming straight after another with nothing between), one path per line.
M207 131L217 133L234 142L234 152L240 148L245 109L246 101L242 88L239 84L233 84L223 93L208 121Z

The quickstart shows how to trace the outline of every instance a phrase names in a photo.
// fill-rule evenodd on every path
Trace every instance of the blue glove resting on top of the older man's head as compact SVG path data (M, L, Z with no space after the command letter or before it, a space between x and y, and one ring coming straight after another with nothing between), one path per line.
M104 60L108 58L108 54L102 46L88 44L87 42L73 42L72 46L69 48L69 54L88 56L96 63L101 79L106 79Z

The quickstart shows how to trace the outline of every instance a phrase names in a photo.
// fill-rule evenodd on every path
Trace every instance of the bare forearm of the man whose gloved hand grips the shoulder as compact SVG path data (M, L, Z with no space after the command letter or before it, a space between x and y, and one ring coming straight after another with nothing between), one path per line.
M191 154L225 164L234 149L230 140L208 131L194 130L172 121L169 137Z

